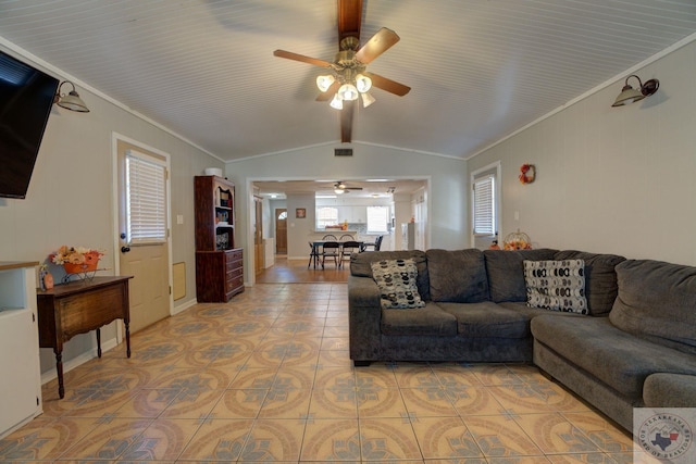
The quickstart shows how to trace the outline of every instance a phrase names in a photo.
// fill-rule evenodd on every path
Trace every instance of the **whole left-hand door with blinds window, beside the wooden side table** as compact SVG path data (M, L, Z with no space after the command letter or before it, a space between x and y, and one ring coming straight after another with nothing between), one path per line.
M169 155L116 139L119 274L130 275L130 331L171 314Z

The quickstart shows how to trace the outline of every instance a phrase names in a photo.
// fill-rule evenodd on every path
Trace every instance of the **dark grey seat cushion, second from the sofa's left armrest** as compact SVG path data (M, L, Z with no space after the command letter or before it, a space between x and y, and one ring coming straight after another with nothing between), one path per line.
M457 333L462 337L526 338L530 335L526 316L490 301L437 304L457 318Z

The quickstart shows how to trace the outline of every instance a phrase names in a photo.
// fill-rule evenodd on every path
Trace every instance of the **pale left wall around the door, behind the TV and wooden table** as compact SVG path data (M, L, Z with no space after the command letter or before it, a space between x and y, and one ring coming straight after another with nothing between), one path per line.
M2 49L32 63L14 51ZM50 70L49 74L53 74ZM55 75L57 77L61 77ZM194 250L194 175L222 162L161 130L123 109L78 86L90 113L75 113L53 106L44 135L36 167L25 200L0 199L0 261L44 262L62 244L105 251L100 266L113 275L112 133L157 148L171 155L172 262L186 262L186 304L196 298ZM102 330L102 344L115 338L115 325ZM137 346L133 347L137 351ZM94 333L73 338L65 346L63 361L96 352ZM50 349L41 350L41 372L54 372Z

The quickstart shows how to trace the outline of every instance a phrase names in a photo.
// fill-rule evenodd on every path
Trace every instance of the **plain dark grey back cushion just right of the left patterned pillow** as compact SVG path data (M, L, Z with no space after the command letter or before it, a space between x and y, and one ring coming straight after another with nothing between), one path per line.
M488 277L483 251L427 250L431 299L450 303L480 303L488 300Z

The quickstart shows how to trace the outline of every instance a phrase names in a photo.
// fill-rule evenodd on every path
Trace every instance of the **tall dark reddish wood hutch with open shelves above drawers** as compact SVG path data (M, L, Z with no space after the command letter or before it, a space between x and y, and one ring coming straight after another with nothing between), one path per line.
M244 291L244 253L235 248L235 186L195 177L196 298L226 302Z

